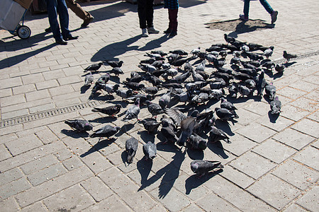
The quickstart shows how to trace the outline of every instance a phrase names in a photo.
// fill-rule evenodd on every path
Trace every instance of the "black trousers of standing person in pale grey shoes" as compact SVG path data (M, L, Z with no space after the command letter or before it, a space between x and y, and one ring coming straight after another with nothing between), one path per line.
M138 0L138 18L140 28L151 28L153 26L154 0Z

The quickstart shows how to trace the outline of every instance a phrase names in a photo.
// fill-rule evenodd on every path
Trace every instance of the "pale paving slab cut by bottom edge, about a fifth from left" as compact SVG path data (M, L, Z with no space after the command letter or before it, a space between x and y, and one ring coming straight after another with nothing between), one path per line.
M78 184L47 197L43 203L49 211L81 211L95 203Z

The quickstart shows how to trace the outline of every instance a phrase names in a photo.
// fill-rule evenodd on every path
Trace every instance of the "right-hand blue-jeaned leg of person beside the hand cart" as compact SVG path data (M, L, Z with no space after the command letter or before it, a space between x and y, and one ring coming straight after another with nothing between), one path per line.
M65 0L57 0L57 12L59 13L62 37L67 40L71 33L69 33L69 13Z

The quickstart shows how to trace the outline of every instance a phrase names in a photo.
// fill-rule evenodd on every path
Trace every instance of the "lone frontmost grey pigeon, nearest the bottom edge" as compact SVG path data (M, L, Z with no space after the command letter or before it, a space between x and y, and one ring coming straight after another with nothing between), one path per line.
M216 168L222 169L223 165L219 161L210 160L193 160L191 162L191 170L199 177Z

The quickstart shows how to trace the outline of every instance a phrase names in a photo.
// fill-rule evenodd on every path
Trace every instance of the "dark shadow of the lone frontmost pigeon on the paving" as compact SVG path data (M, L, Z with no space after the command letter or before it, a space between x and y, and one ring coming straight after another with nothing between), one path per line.
M187 178L185 181L186 194L191 194L192 189L196 189L197 187L201 186L201 184L205 183L221 172L223 172L222 169L216 170L215 172L208 172L206 175L200 178L198 178L196 175L191 175L191 177Z

